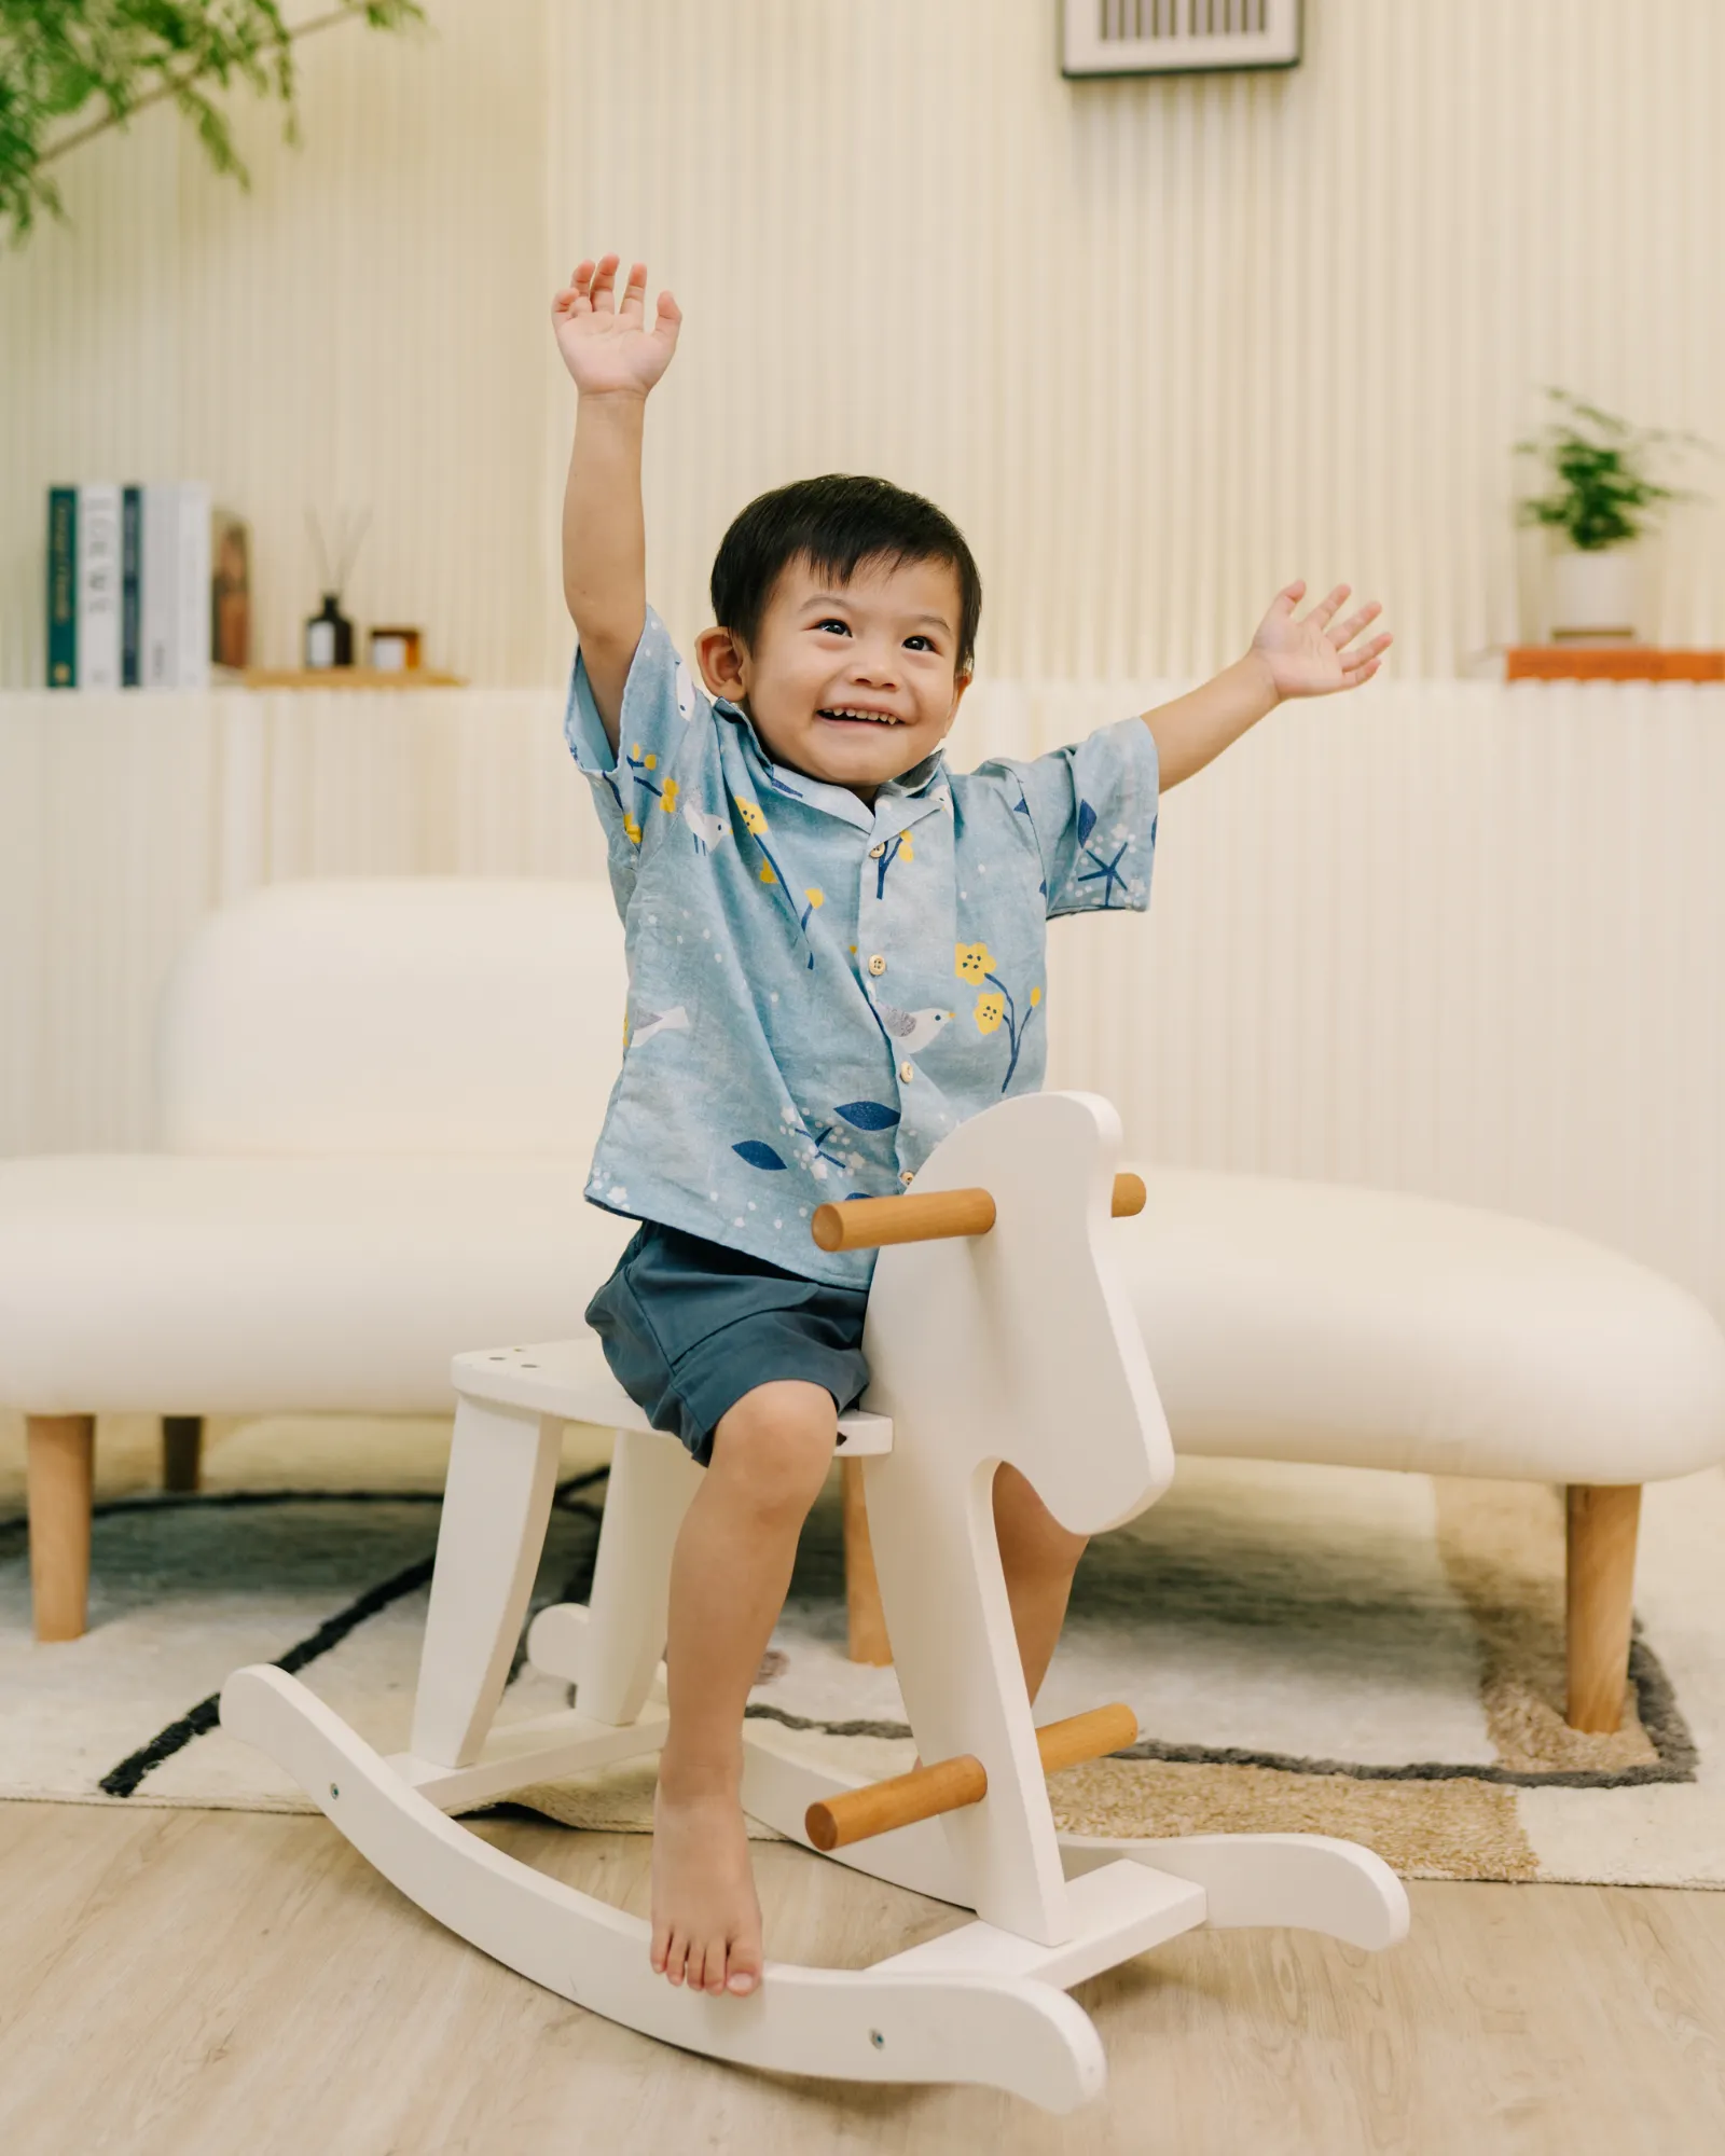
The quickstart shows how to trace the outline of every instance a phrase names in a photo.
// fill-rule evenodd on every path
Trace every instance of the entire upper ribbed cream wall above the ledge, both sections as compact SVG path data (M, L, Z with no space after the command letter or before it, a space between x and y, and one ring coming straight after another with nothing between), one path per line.
M360 619L552 679L546 302L612 239L690 315L649 470L679 632L755 489L862 468L968 530L996 675L1210 668L1294 571L1445 675L1516 627L1542 382L1725 442L1719 0L1309 0L1294 73L1082 84L1054 0L429 13L306 47L250 196L153 112L0 263L0 681L41 679L41 489L175 472L252 517L263 658L315 606L304 502L371 500ZM1725 520L1673 539L1650 627L1725 640Z

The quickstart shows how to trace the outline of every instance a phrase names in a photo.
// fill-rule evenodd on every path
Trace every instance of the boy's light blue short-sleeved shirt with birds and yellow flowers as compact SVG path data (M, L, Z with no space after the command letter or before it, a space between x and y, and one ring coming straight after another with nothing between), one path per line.
M591 1203L867 1287L828 1199L901 1190L1041 1084L1046 921L1149 906L1141 718L1035 761L936 750L867 806L772 761L647 614L612 752L576 658L565 733L606 828L630 1003Z

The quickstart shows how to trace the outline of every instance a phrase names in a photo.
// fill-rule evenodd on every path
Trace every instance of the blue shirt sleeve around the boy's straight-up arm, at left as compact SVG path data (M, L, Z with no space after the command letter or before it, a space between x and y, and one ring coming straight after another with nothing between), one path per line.
M677 815L679 796L701 759L718 759L714 707L696 686L660 617L647 608L640 642L623 683L617 750L606 740L586 660L576 653L563 737L593 787L606 828L612 890L621 899L640 858Z

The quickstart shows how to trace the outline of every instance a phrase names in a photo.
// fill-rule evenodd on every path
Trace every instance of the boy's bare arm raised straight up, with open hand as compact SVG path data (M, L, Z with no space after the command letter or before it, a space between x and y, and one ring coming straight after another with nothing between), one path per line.
M580 263L552 300L556 347L578 390L563 492L563 597L612 750L623 683L647 619L640 431L647 395L671 364L684 321L662 291L658 319L647 328L645 263L630 270L619 306L617 265L617 254Z

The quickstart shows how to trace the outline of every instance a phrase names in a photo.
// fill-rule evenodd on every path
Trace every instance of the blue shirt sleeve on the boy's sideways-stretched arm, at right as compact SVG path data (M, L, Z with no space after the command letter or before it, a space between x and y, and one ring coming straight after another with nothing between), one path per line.
M1031 819L1054 914L1149 906L1156 860L1156 735L1123 718L1033 763L994 761L977 776L1005 780Z

